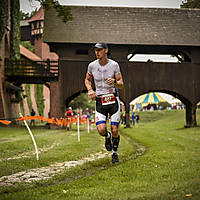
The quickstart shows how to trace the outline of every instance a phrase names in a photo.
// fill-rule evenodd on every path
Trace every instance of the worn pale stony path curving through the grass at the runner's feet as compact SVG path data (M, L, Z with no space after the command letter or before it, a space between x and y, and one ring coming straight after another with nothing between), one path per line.
M131 156L124 157L122 159L122 162L136 159L137 157L144 155L144 153L146 151L145 146L134 141L129 135L123 134L123 136L134 148L136 147L136 152L134 154L132 154ZM24 156L26 156L26 155L24 155ZM101 151L101 152L92 154L89 157L85 157L80 160L54 163L47 167L30 169L30 170L18 172L18 173L9 175L9 176L3 176L3 177L0 177L0 187L1 186L12 186L13 184L20 183L20 182L30 183L32 181L47 180L47 179L50 179L51 177L55 176L56 174L63 172L66 169L76 167L78 165L83 165L86 162L92 162L92 161L95 161L95 160L98 160L101 158L105 158L107 156L111 156L111 153Z

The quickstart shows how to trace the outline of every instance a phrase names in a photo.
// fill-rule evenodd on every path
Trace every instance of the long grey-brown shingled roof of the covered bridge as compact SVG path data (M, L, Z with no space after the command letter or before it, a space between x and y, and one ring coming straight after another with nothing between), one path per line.
M200 46L200 9L71 6L73 21L45 11L44 41Z

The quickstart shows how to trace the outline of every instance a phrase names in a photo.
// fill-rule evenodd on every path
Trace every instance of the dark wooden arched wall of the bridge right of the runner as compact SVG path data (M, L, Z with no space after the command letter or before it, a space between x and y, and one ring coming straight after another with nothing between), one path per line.
M125 102L127 121L132 99L150 91L168 91L178 95L185 104L186 126L197 125L196 104L200 98L200 68L197 64L120 62L120 66L125 83L120 95Z

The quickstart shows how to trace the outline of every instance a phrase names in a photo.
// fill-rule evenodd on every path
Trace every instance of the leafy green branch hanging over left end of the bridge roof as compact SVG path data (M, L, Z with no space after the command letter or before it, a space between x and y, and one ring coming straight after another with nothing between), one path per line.
M73 16L71 13L71 7L69 6L61 6L57 0L38 0L45 9L55 8L58 17L61 17L63 22L68 22L73 20Z

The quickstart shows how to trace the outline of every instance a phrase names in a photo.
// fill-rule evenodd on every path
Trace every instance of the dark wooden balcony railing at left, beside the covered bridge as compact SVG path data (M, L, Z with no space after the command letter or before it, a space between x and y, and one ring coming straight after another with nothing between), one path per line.
M5 60L5 78L8 82L46 83L58 81L58 61Z

